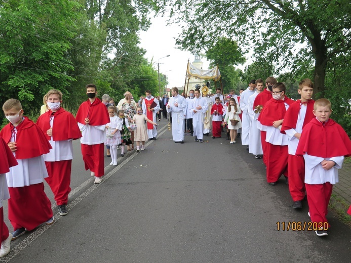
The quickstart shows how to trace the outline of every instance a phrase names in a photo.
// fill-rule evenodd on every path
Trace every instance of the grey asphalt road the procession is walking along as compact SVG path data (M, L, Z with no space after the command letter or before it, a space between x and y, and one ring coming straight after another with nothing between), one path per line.
M100 185L75 141L68 215L54 206L55 224L13 241L0 262L349 262L351 229L330 213L327 237L291 230L309 222L307 204L293 210L284 177L269 186L240 139L175 144L165 120L159 133L116 167L106 157Z

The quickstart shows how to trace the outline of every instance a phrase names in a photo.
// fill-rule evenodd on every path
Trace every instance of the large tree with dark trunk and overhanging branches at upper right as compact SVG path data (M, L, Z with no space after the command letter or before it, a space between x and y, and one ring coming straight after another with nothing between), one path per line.
M186 23L177 39L182 49L197 51L225 34L277 70L300 74L314 68L317 93L323 96L328 62L349 53L351 5L348 0L182 0L164 2L160 9L175 22ZM204 35L206 37L204 37ZM278 72L277 72L278 73Z

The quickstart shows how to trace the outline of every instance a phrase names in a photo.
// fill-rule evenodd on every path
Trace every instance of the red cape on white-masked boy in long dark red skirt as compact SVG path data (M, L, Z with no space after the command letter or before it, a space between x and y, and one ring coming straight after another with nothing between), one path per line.
M13 129L13 124L9 123L1 130L0 136L4 138L6 143L9 143L11 140ZM49 153L50 149L52 149L41 128L27 117L24 117L24 120L16 129L16 159L38 157Z

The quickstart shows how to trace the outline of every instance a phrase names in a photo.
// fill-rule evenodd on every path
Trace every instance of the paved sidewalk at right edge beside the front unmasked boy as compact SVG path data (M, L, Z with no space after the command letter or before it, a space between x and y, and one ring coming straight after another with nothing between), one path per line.
M333 186L333 194L351 204L351 163L344 163L339 170L339 183Z

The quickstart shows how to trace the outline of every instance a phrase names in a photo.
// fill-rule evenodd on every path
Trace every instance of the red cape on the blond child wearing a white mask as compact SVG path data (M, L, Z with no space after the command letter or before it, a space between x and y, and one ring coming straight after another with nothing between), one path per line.
M52 114L54 115L52 127L52 137L54 141L76 140L82 137L81 130L73 115L61 107L56 112L52 112L51 110L45 112L36 121L36 124L43 130L48 140L50 140L51 137L46 134L46 131L50 129L50 117Z

